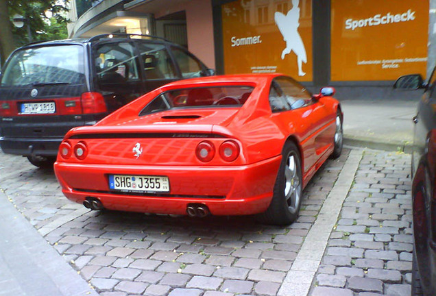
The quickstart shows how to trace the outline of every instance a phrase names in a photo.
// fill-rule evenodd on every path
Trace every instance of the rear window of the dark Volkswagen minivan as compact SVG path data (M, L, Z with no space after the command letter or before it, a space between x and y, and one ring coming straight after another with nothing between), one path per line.
M36 47L16 51L1 79L1 86L82 83L84 49L80 45Z

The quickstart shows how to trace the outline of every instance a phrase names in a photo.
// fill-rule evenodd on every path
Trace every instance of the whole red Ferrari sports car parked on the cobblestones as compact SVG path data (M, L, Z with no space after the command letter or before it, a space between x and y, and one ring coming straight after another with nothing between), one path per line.
M280 74L173 82L70 130L56 177L66 197L95 210L259 214L286 225L315 171L341 153L334 93L312 95Z

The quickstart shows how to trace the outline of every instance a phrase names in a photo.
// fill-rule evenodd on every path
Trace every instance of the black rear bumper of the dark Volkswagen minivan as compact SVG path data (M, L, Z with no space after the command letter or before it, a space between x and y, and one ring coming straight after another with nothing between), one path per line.
M59 138L6 138L0 137L0 147L4 153L22 156L57 156L59 145L63 137Z

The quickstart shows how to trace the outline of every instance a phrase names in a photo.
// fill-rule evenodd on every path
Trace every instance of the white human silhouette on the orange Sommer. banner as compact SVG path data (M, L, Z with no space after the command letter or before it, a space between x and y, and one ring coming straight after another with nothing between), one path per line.
M304 76L306 73L302 70L302 63L306 64L307 56L303 40L298 33L298 27L300 26L299 3L300 0L292 0L292 9L289 10L286 16L282 14L282 12L276 12L274 14L274 21L276 21L277 27L280 33L282 33L283 40L286 42L286 48L282 51L282 60L284 60L284 56L293 51L297 56L298 76Z

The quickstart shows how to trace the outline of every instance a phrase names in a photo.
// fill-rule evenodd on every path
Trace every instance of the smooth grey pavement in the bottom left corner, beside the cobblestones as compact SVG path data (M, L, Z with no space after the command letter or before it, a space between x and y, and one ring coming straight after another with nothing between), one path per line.
M0 208L0 296L98 295L1 192Z

